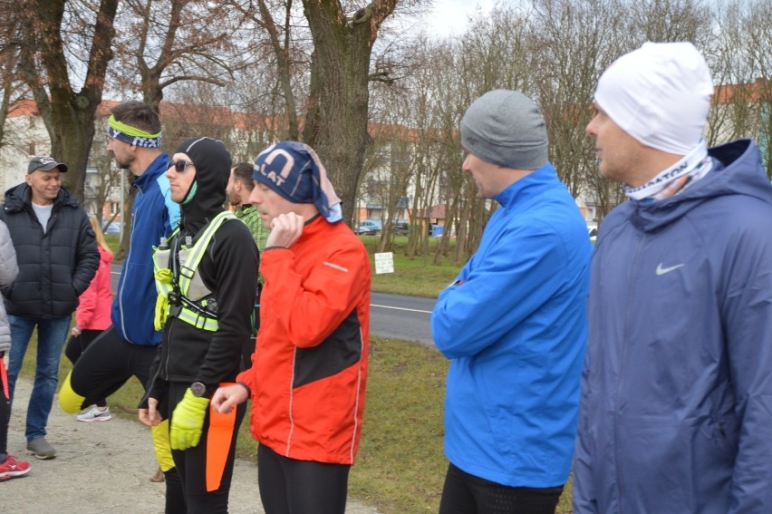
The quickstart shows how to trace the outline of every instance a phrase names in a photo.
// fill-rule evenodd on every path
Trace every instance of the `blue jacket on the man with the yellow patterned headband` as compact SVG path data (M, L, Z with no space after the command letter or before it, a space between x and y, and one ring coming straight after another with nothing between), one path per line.
M160 343L161 332L153 329L156 286L153 278L153 245L169 236L179 223L179 204L169 196L166 153L134 180L137 196L131 208L131 243L123 261L118 293L112 302L112 325L132 344Z

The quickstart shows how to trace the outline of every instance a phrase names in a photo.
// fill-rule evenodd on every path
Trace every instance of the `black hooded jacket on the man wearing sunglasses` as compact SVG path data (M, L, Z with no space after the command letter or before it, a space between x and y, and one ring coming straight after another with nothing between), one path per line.
M231 167L222 141L195 138L180 144L177 152L188 155L196 178L180 204L179 233L169 241L171 248L187 236L195 244L209 221L224 210ZM248 366L242 352L251 338L258 264L255 240L246 225L237 219L223 223L198 265L204 284L217 299L217 332L169 317L141 408L147 407L148 398L161 400L167 382L202 382L212 393ZM254 348L254 341L251 345Z

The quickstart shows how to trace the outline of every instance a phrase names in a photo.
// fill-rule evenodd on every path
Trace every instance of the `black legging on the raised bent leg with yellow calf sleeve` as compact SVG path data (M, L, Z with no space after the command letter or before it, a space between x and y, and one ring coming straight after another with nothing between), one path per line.
M158 348L127 343L112 326L102 332L72 366L72 391L85 397L81 408L104 401L131 376L147 388Z

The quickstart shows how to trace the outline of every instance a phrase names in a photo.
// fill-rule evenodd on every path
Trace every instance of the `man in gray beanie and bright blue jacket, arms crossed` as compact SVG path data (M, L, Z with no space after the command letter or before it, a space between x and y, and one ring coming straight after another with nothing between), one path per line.
M461 143L479 195L501 207L431 314L451 361L439 511L553 513L574 452L592 245L523 93L478 98Z

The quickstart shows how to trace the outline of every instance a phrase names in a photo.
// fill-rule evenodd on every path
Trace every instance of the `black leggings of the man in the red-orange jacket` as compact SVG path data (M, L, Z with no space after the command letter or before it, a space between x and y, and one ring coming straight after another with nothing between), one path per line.
M296 461L265 444L257 447L257 483L265 514L343 514L347 464Z

